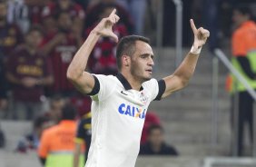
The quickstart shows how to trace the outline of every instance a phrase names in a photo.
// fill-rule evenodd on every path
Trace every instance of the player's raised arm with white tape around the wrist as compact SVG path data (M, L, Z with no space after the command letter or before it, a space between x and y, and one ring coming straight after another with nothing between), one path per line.
M197 29L192 19L190 20L190 22L192 32L194 34L192 49L186 55L186 57L182 61L182 64L180 64L175 72L172 75L163 78L166 84L166 88L165 92L162 94L162 98L182 89L189 83L189 80L194 73L194 69L197 64L202 45L206 43L207 38L210 36L210 32L208 30L202 27Z

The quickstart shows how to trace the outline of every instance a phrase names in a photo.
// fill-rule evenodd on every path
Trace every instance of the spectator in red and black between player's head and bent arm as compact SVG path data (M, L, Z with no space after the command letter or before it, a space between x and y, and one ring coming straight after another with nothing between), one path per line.
M97 22L93 26L86 29L86 36L94 29L95 24L98 23L103 17L107 17L113 11L113 4L103 4L101 5L101 13L97 17ZM127 29L125 25L116 24L113 26L113 32L122 38L127 35ZM116 66L116 43L110 37L101 38L97 44L95 44L94 51L90 56L88 68L94 74L117 74Z

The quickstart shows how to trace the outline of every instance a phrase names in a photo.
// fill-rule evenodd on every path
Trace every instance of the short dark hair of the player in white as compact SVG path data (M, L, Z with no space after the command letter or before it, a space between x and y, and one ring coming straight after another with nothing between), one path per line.
M143 41L144 43L150 44L150 40L148 38L134 34L124 36L117 44L116 63L119 70L122 67L122 55L126 54L132 56L135 52L136 41Z

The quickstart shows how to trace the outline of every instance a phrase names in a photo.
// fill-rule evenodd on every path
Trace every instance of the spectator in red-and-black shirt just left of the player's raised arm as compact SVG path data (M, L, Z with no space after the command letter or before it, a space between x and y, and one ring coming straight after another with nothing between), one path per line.
M72 31L74 25L69 13L59 13L57 24L58 31L46 36L43 42L44 53L48 54L48 58L54 64L54 84L48 90L48 94L67 97L74 93L74 87L66 79L66 70L82 42L82 35L76 35Z

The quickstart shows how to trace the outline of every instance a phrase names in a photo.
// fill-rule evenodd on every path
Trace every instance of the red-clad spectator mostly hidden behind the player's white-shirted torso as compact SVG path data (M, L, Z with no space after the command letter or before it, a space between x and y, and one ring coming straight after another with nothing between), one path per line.
M152 111L149 111L147 113L147 116L145 118L145 122L144 122L144 125L143 125L143 133L142 133L141 144L144 144L147 141L149 128L153 124L161 125L160 119L155 113L153 113Z

